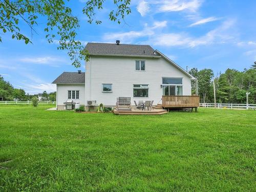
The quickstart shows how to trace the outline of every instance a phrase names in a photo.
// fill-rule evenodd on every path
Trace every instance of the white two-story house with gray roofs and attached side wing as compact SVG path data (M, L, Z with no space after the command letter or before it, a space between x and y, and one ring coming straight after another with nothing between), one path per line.
M57 109L67 100L115 106L117 97L131 97L133 105L134 100L157 104L163 95L191 95L195 78L151 46L89 42L85 49L90 53L85 72L64 72L53 81Z

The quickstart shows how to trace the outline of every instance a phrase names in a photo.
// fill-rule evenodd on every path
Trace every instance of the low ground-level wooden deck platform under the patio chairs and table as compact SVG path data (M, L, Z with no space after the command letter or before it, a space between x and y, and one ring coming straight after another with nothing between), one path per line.
M116 115L162 115L165 113L168 113L167 110L164 109L153 109L151 111L147 111L147 110L113 110L113 113Z

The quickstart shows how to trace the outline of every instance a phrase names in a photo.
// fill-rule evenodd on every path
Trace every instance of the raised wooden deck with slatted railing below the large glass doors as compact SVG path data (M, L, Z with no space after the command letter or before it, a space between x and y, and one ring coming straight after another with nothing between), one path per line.
M163 108L198 108L199 96L162 96Z

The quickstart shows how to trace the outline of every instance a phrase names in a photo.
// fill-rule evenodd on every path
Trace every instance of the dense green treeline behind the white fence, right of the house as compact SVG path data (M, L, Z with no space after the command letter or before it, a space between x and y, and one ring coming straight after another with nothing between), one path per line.
M219 73L214 77L211 69L198 71L193 68L189 71L191 75L198 79L198 91L200 102L214 102L215 81L216 102L218 103L246 103L246 92L249 94L249 103L256 103L256 66L251 69L238 71L227 69L225 73ZM196 82L191 84L192 93L196 92Z

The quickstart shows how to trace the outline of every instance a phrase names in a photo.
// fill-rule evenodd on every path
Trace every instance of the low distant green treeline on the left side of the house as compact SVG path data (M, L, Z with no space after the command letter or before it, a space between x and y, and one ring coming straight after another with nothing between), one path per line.
M4 77L0 75L0 100L4 101L12 101L12 100L20 100L27 101L31 100L33 97L38 97L37 94L29 95L23 89L15 89L12 84L8 81L4 80ZM56 101L56 92L47 93L44 91L42 93L41 101Z

